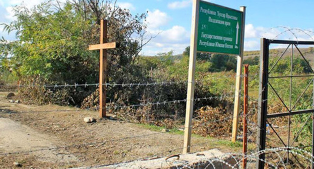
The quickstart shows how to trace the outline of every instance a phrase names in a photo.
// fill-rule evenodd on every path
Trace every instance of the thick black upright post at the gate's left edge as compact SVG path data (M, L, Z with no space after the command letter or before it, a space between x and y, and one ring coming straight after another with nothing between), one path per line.
M266 118L267 118L267 94L268 94L268 59L269 59L269 40L261 38L260 56L260 89L258 101L258 127L257 146L258 150L266 147ZM259 159L265 160L265 153L259 154ZM256 168L264 169L265 162L258 160Z

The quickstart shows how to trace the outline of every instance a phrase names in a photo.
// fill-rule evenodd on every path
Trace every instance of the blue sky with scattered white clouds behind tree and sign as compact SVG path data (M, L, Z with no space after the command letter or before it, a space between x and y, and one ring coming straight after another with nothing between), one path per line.
M45 0L25 0L29 7ZM65 1L65 0L62 0ZM260 38L313 40L314 39L314 1L311 0L206 0L233 9L247 7L245 50L259 50ZM0 22L14 20L12 6L22 0L0 0L2 17ZM148 11L147 31L156 38L142 50L144 55L155 55L173 50L182 53L190 43L192 0L117 0L117 5L129 9L133 14ZM286 28L284 28L286 27ZM0 27L2 30L2 28ZM306 33L300 31L303 30ZM0 37L14 40L14 35L0 32ZM280 46L277 46L280 47Z

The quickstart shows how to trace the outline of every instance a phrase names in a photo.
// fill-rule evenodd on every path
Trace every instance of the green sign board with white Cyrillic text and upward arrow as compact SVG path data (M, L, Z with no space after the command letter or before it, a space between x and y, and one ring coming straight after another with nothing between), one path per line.
M197 51L240 54L242 12L200 1Z

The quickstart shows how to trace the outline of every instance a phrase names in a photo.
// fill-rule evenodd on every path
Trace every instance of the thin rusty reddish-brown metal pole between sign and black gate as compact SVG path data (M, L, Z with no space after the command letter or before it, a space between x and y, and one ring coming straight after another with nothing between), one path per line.
M243 112L243 168L247 168L248 150L248 98L249 98L249 65L244 65L244 112Z

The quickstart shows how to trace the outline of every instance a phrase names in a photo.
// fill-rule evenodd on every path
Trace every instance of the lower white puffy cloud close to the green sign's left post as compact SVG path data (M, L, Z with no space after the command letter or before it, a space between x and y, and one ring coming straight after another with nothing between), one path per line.
M182 26L174 26L161 33L163 41L182 42L189 38L189 32Z

